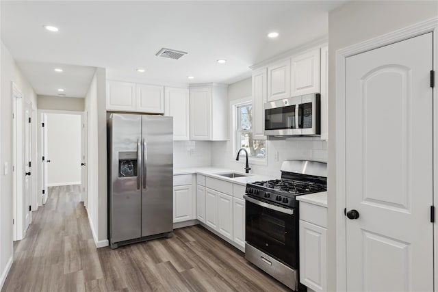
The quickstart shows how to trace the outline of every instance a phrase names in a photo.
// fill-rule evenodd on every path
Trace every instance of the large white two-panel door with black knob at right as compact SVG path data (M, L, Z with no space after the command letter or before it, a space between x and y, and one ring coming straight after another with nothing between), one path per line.
M346 59L348 291L433 291L432 48L430 33Z

